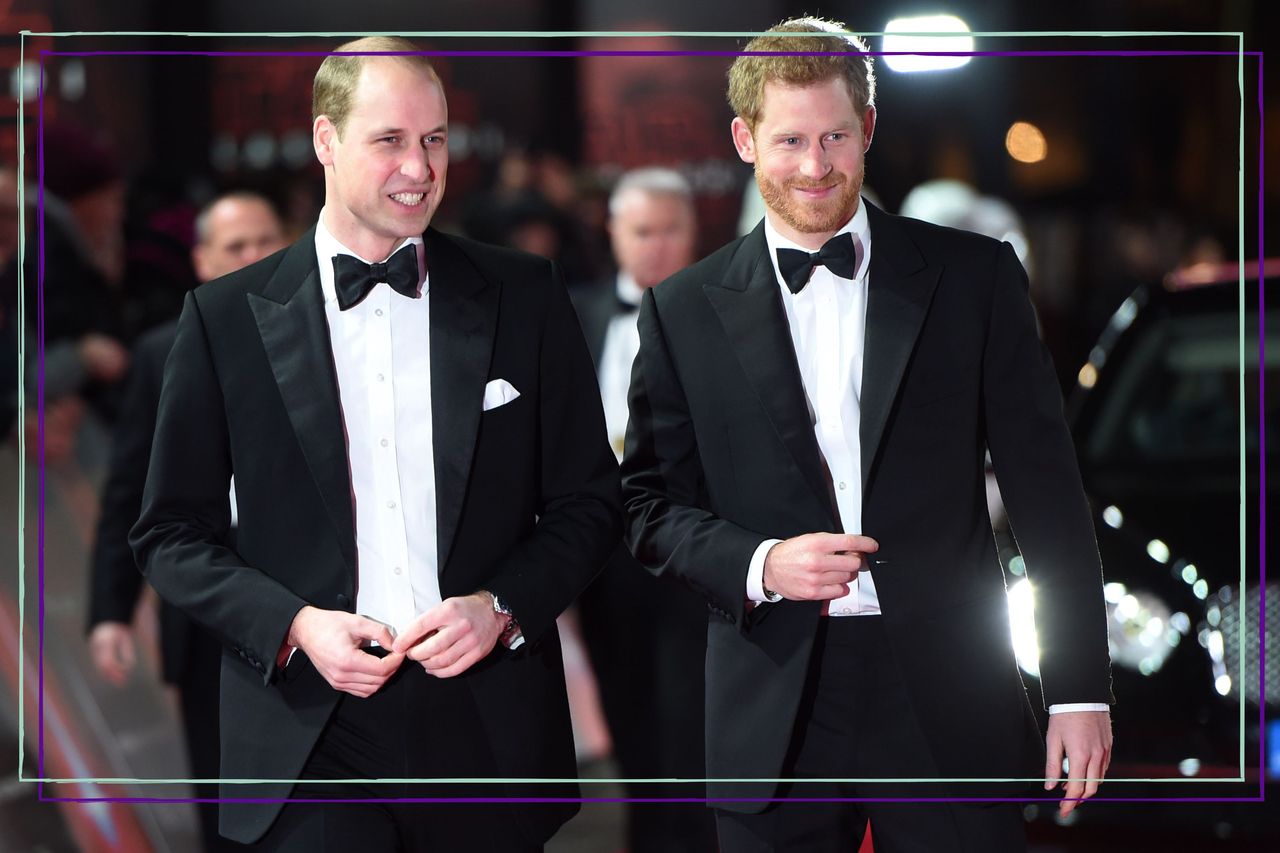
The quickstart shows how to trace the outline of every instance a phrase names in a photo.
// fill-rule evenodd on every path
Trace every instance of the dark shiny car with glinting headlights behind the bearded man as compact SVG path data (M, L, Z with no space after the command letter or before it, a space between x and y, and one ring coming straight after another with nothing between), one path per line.
M1265 269L1263 282L1280 261ZM1108 777L1160 780L1111 783L1102 797L1258 797L1280 779L1280 649L1258 670L1260 532L1277 542L1262 520L1277 480L1262 466L1266 450L1280 450L1280 292L1262 287L1253 261L1243 275L1234 264L1199 266L1138 289L1069 394L1106 575L1117 699ZM1272 297L1265 313L1261 297ZM1019 557L1009 565L1021 573ZM1011 581L1015 646L1033 681L1030 588ZM1277 581L1266 585L1271 637ZM1266 740L1270 770L1263 756ZM1242 763L1245 781L1231 783ZM1139 825L1178 839L1164 849L1280 849L1267 847L1280 844L1277 821L1261 804L1098 803L1076 815L1075 833L1092 824L1119 841L1121 831L1129 840L1115 849L1138 849L1142 833L1120 827Z

